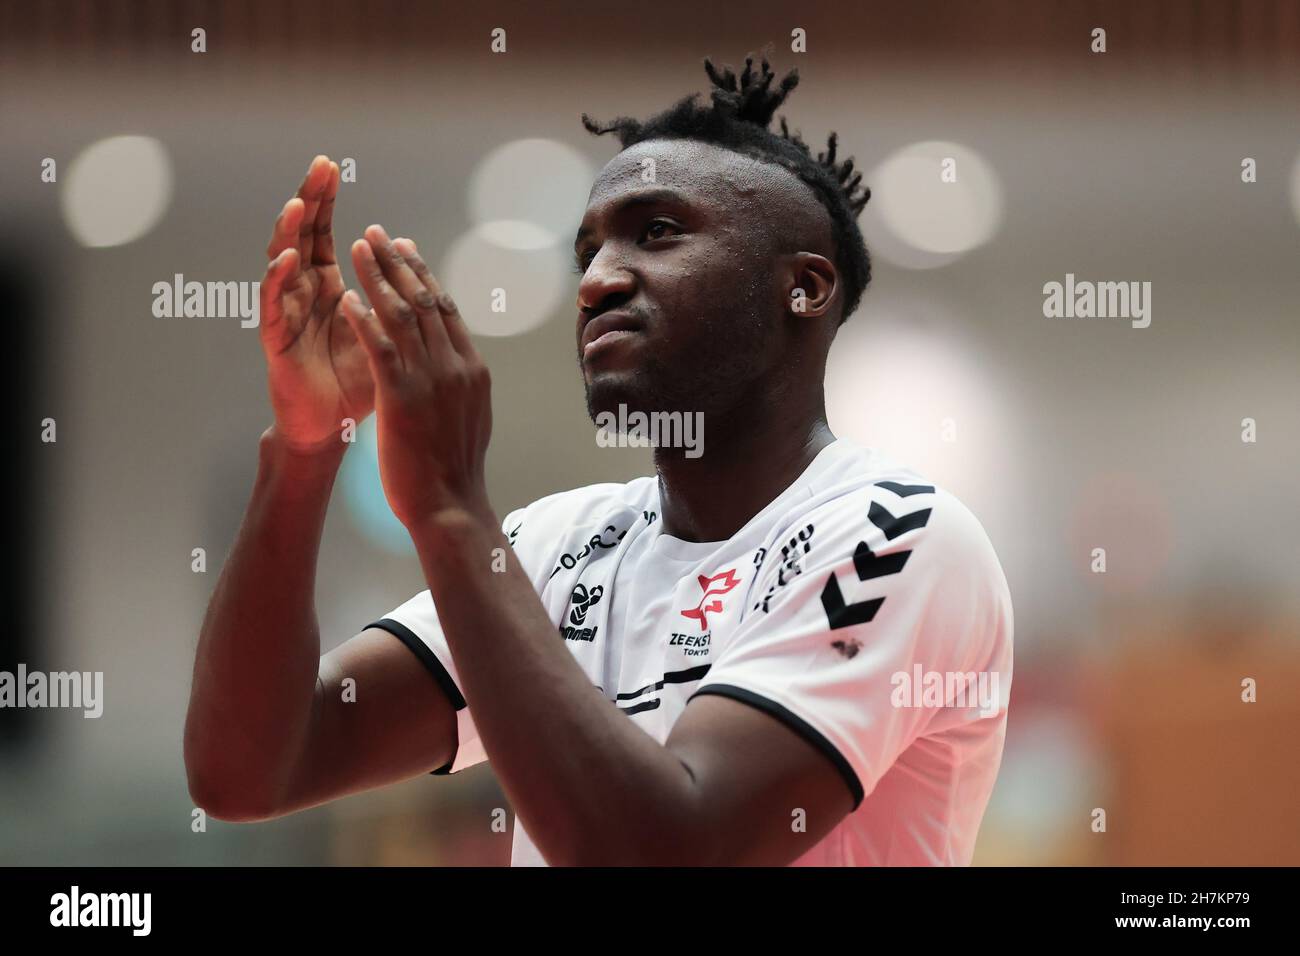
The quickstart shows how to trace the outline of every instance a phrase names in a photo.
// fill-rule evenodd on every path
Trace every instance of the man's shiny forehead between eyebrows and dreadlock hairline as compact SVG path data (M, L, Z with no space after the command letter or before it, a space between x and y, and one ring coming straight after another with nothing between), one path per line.
M789 193L802 183L790 173L738 152L693 139L650 139L611 159L597 174L584 220L615 208L620 199L655 187L686 202L736 208L774 191Z

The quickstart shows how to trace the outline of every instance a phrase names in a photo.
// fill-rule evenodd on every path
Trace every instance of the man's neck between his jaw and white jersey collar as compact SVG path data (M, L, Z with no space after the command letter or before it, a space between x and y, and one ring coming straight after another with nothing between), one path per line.
M835 441L820 393L810 407L755 416L753 405L710 415L703 454L655 449L664 533L722 541L770 505Z

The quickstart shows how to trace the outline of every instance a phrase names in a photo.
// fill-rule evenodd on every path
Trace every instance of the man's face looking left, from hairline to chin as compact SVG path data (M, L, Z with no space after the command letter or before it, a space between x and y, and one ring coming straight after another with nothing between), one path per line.
M575 242L593 420L620 403L727 411L780 369L774 176L788 174L692 140L640 143L601 170Z

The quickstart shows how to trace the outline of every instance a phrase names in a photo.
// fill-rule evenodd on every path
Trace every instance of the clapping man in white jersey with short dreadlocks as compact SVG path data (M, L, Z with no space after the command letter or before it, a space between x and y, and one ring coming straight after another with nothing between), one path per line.
M656 447L656 477L503 522L488 371L456 306L380 226L351 247L373 308L344 291L338 166L312 163L268 248L276 421L186 723L213 816L490 760L515 865L970 861L1006 726L1006 581L958 499L827 427L827 350L870 280L853 161L833 134L814 159L770 131L793 73L774 90L766 61L706 69L706 105L584 116L624 150L575 246L593 418L698 414L705 454ZM339 428L372 405L429 587L320 656ZM923 697L923 675L949 679Z

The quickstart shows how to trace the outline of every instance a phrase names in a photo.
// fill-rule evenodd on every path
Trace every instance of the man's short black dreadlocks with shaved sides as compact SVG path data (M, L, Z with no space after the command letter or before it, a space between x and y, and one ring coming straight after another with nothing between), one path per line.
M582 113L582 125L595 135L614 133L624 150L647 139L694 139L720 146L779 165L806 182L831 213L836 265L844 284L842 323L858 307L862 290L871 281L871 258L857 222L858 213L871 199L871 190L862 185L862 173L853 172L852 157L836 161L835 133L827 148L814 159L800 134L790 133L785 117L781 117L780 135L768 129L777 107L798 86L797 69L785 74L776 90L770 88L776 74L766 57L757 72L754 57L745 57L740 77L728 66L719 72L707 59L705 72L712 81L710 105L701 105L696 101L699 94L692 94L645 122L620 116L598 124Z

